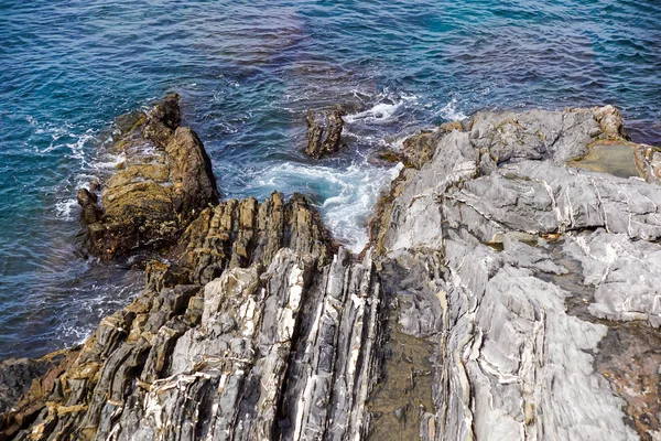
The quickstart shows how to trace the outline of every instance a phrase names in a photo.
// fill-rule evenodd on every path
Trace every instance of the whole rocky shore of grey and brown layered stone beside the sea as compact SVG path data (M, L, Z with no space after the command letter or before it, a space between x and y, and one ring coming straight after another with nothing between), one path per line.
M164 257L80 347L0 365L0 440L661 437L661 151L615 108L411 138L360 256L302 195L218 202L178 123L80 196L93 254Z

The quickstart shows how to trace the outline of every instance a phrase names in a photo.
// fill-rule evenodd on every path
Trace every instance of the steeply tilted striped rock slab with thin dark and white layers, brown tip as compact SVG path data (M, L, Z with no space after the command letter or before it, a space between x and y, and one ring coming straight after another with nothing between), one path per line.
M133 303L14 405L3 437L346 439L368 431L381 335L371 261L337 249L300 195L224 202L183 237L174 261L148 266Z

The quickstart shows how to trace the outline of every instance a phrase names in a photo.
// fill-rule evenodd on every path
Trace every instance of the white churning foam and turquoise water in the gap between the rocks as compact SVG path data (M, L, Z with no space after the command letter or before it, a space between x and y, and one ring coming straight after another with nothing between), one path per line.
M370 153L382 148L401 149L410 130L400 127L405 125L400 115L415 105L419 97L391 90L383 90L377 96L354 90L354 95L368 108L344 116L345 141L356 142L361 146L362 152ZM398 130L401 131L398 133ZM324 162L269 165L254 178L249 176L248 189L243 191L258 197L266 197L273 190L285 193L299 191L308 195L335 238L358 252L367 244L368 220L380 192L403 166L379 166L360 157L360 151L358 153L353 163L344 166L327 166Z

